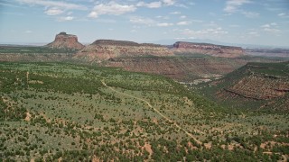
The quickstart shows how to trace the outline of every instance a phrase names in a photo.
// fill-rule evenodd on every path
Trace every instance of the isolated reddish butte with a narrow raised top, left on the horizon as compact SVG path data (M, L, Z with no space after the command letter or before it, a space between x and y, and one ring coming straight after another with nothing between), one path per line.
M56 35L55 40L46 45L54 49L83 49L84 45L79 43L76 35L61 32Z

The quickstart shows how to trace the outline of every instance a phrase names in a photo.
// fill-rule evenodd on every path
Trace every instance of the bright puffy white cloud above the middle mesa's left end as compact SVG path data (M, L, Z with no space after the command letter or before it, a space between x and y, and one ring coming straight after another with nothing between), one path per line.
M135 12L135 5L117 4L116 2L109 2L108 4L98 4L93 8L89 17L98 18L101 14L120 15Z

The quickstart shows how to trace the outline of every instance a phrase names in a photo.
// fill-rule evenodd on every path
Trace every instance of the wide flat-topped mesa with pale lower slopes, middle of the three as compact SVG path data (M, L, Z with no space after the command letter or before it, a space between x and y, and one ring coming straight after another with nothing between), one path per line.
M84 49L81 49L74 58L91 62L107 60L109 58L163 57L172 55L172 51L156 44L139 44L125 40L96 40Z

